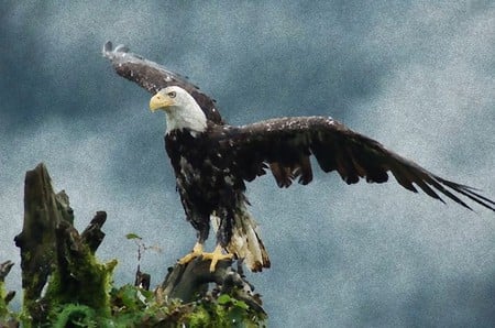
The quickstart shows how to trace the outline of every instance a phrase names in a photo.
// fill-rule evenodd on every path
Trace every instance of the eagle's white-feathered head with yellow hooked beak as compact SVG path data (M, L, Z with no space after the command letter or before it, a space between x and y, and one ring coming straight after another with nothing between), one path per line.
M198 102L180 87L172 86L160 90L150 100L150 109L165 111L166 133L177 129L193 132L204 132L207 129L207 118Z

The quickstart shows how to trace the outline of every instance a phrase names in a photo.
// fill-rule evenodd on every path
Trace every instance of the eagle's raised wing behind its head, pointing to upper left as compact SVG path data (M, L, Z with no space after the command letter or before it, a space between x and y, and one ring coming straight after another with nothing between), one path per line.
M117 74L136 83L150 94L155 95L161 89L169 86L179 86L195 98L209 120L217 124L223 124L215 100L201 92L186 77L170 72L162 65L147 61L140 55L130 53L129 48L124 45L118 45L113 48L110 41L103 45L103 56L110 59Z

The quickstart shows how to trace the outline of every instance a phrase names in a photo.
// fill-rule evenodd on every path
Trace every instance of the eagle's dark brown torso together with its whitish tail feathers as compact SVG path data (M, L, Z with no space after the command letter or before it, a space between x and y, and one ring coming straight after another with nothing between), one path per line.
M248 259L246 264L253 271L261 271L270 267L270 260L256 223L246 210L242 178L252 173L245 165L239 165L239 153L222 142L229 132L229 127L217 124L210 124L202 133L174 130L165 135L165 147L186 217L197 230L198 241L204 243L208 238L212 216L218 219L217 242L238 258L258 253L258 256ZM257 173L261 171L256 170L254 175ZM252 240L239 236L244 230L250 230ZM231 243L233 234L237 244Z

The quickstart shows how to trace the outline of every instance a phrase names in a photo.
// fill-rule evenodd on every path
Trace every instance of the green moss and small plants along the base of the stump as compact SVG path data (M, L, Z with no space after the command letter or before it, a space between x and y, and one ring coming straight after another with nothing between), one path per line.
M113 263L113 262L112 262ZM101 265L101 264L98 264ZM110 265L111 266L111 265ZM89 269L81 269L79 273ZM89 270L94 272L95 269ZM98 266L97 273L110 274L111 267ZM97 280L98 281L98 280ZM54 276L48 286L50 297L45 305L51 307L46 327L264 327L266 315L235 298L235 292L218 297L208 295L196 302L183 304L180 300L161 303L153 292L124 285L111 288L110 280L84 287L84 295L70 294ZM1 285L0 285L1 286ZM97 291L96 286L99 286ZM90 294L94 293L94 294ZM72 295L72 297L70 297ZM89 302L88 296L94 300ZM102 299L96 299L102 297ZM85 300L86 303L81 303ZM105 306L106 308L101 308ZM2 311L0 324L7 322ZM24 327L30 327L24 321ZM0 325L1 326L1 325Z

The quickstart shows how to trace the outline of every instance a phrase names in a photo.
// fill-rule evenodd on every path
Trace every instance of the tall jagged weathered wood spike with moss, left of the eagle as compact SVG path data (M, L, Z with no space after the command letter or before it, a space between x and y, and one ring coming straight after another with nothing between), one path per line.
M46 166L26 172L24 223L14 240L21 249L23 305L34 326L44 324L50 306L65 302L109 310L103 306L106 285L116 262L103 265L94 256L105 237L106 218L98 211L79 236L69 198L64 190L55 194Z

